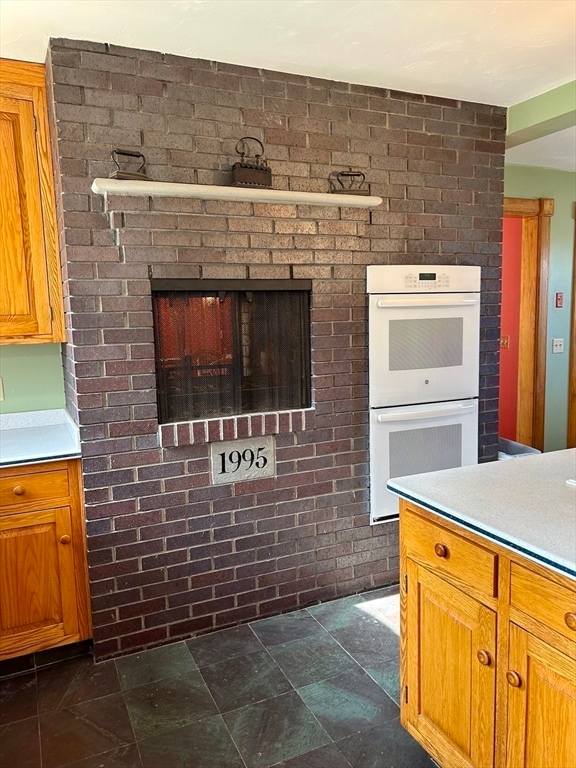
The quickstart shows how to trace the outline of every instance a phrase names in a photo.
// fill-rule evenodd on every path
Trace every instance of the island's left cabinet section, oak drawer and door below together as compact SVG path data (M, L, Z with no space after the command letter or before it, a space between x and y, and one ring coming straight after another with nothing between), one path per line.
M402 724L442 765L491 766L494 555L411 511L402 534Z

